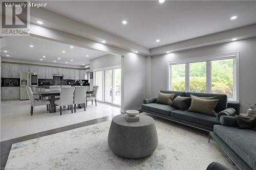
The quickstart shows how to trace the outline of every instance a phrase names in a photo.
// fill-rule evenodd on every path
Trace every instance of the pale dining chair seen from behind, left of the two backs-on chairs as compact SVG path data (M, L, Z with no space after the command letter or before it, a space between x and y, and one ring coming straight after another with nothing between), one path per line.
M73 113L73 98L74 98L75 87L61 87L60 98L54 101L55 105L59 106L60 115L62 115L62 106L71 105L71 113Z

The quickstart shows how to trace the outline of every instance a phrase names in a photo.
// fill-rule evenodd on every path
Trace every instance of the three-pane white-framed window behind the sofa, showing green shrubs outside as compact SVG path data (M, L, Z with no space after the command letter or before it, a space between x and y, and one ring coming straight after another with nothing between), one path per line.
M239 53L169 63L169 89L226 94L238 101Z

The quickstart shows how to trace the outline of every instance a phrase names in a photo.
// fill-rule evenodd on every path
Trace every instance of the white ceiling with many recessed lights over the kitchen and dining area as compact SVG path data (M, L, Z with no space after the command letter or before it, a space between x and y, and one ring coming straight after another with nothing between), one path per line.
M1 39L2 41L3 39ZM6 46L1 46L1 56L9 58L32 60L40 62L59 63L68 65L87 65L90 59L106 55L106 53L89 50L87 48L63 44L51 40L41 39L31 36L6 36L4 37ZM33 45L34 47L30 47ZM5 53L4 51L8 51ZM65 51L65 53L62 53ZM89 55L89 57L87 57ZM43 58L42 56L46 56ZM60 60L58 60L60 58ZM56 62L54 62L54 60ZM73 60L73 61L71 61Z

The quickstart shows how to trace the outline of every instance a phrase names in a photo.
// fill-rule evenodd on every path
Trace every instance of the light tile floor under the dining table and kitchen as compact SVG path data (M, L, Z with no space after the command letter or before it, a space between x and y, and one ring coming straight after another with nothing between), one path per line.
M76 113L71 113L66 107L61 116L58 106L56 113L47 113L46 106L36 106L31 116L29 101L1 101L1 141L120 114L118 107L102 103L97 103L97 106L93 104L88 102L86 111L83 111L83 108L76 109Z

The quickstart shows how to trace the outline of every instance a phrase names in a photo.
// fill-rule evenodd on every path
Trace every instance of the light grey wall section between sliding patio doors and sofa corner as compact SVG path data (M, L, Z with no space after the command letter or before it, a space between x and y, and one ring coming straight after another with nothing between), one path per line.
M134 53L122 56L121 111L139 109L145 99L146 57Z

